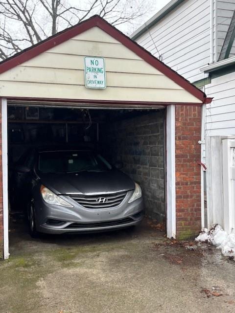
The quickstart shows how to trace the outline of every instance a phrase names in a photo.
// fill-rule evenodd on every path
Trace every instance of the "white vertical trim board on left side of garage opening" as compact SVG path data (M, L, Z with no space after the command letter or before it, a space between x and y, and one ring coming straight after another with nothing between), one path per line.
M3 258L9 257L8 239L8 160L7 160L7 100L1 99Z

